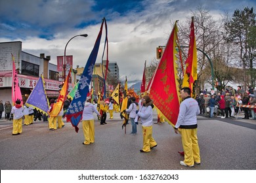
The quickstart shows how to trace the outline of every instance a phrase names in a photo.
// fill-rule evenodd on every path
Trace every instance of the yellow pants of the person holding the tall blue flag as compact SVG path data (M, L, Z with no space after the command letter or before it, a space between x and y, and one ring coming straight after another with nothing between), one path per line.
M83 120L83 135L85 136L84 144L95 142L95 120Z

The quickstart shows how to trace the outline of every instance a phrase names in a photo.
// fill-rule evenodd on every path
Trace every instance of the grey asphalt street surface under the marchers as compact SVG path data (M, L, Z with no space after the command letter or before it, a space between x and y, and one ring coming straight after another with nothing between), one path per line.
M154 112L154 123L157 114ZM65 122L65 121L64 121ZM49 131L48 122L23 125L20 135L12 135L12 122L0 120L1 170L255 170L256 120L242 116L205 118L198 116L201 164L183 167L178 154L181 136L167 122L154 124L158 146L141 153L141 124L137 135L129 135L131 123L121 128L119 113L100 125L95 115L95 143L83 145L83 129L78 133L68 122L62 129Z

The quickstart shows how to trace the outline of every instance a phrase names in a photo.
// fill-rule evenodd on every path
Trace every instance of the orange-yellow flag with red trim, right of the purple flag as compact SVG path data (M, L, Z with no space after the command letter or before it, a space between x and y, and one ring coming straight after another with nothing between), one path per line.
M58 95L56 103L54 103L53 105L53 110L51 110L51 112L48 112L48 114L52 117L58 116L58 113L60 113L60 110L64 105L64 101L66 100L66 96L68 94L68 82L70 81L71 70L72 69L70 69L70 71L68 72L68 76L62 86L60 95Z

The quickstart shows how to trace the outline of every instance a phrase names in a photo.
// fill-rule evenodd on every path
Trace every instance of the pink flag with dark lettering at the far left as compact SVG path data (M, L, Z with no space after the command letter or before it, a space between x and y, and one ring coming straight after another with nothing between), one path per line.
M16 71L15 58L12 54L12 105L15 104L17 99L19 99L21 101L20 104L23 105L22 93L18 83L18 71Z

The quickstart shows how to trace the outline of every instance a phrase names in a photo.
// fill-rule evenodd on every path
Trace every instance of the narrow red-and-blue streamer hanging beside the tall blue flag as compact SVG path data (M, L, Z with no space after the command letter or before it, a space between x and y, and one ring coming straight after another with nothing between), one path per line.
M105 20L105 18L104 18ZM106 77L108 75L108 27L106 24L106 20L105 20L105 29L106 29L106 39L105 39L105 43L104 43L104 49L103 49L103 54L102 54L102 76L104 78L104 86L102 87L102 95L103 98L106 98ZM104 52L105 52L105 48L106 48L106 72L104 74L104 69L103 69L103 57L104 57Z

